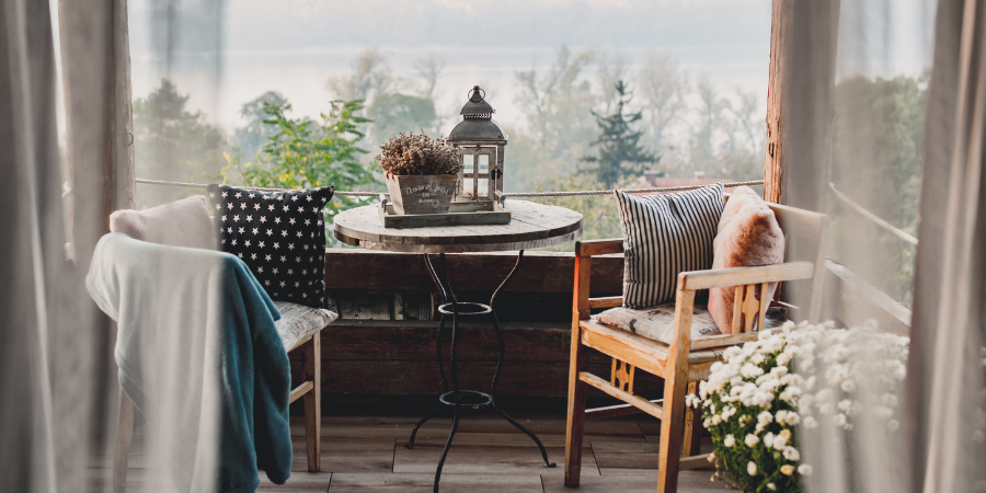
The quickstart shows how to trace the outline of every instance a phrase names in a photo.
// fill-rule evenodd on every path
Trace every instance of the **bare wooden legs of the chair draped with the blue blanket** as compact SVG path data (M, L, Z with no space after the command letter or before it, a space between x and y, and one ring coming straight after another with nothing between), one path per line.
M305 398L305 442L308 448L308 471L321 470L322 457L322 335L317 331L286 347L288 354L300 351L303 381L291 390L290 402ZM127 458L134 435L134 402L119 389L116 425L116 457L113 461L113 492L123 493L127 486Z

